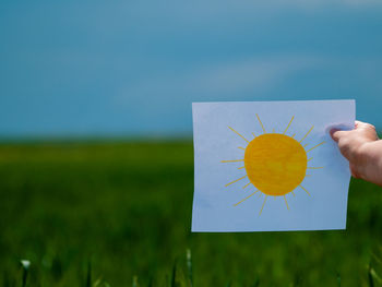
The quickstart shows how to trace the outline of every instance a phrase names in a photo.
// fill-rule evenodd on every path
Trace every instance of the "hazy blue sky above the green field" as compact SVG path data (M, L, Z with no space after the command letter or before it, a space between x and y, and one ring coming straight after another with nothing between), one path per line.
M191 103L356 98L382 127L382 2L1 1L0 136L177 136Z

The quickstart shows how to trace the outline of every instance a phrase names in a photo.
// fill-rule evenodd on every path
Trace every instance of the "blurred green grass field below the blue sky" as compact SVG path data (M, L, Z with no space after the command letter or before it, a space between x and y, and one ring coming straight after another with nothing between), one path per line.
M191 234L191 142L2 144L0 194L4 287L21 259L27 286L88 286L88 263L93 286L189 286L188 249L193 286L381 283L382 189L359 180L343 231Z

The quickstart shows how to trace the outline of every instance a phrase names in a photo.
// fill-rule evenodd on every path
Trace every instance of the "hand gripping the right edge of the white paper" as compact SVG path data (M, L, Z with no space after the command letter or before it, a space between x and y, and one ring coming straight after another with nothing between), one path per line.
M351 175L382 186L382 141L374 125L356 121L351 131L331 130L343 156L349 160Z

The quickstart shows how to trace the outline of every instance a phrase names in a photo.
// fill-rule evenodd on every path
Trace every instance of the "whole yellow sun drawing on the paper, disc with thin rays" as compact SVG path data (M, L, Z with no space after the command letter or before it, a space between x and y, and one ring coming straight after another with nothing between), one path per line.
M244 151L242 159L222 160L222 163L243 162L244 165L238 168L246 169L247 175L227 183L226 187L247 178L249 182L242 188L246 189L251 184L255 188L254 192L234 204L234 206L239 205L259 192L260 195L263 193L265 194L260 215L268 196L275 196L275 199L283 196L286 207L289 210L286 194L291 193L295 196L294 191L299 188L310 195L308 190L301 186L305 178L310 177L310 175L307 175L307 170L321 169L323 167L308 166L309 162L313 159L312 157L309 158L308 154L325 142L321 142L313 147L306 150L308 144L305 144L303 141L313 130L314 125L310 128L301 140L296 140L296 134L293 134L291 136L286 134L295 117L291 117L283 133L276 133L274 129L272 133L267 133L259 115L256 113L255 116L263 133L256 136L252 132L254 139L251 141L247 140L231 127L228 127L232 132L247 142L247 147L238 147Z

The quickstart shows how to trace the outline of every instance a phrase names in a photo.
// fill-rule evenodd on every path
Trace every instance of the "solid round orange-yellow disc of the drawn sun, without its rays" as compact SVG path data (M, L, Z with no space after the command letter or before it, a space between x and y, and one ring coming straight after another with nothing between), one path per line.
M285 134L262 134L246 148L248 178L268 195L284 195L295 190L306 176L307 164L302 145Z

